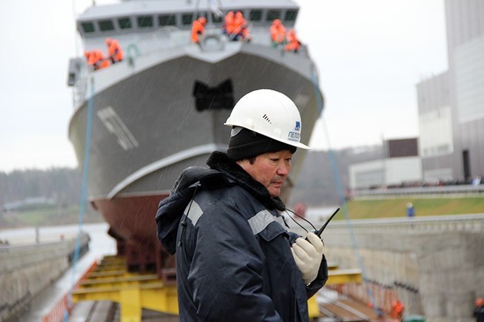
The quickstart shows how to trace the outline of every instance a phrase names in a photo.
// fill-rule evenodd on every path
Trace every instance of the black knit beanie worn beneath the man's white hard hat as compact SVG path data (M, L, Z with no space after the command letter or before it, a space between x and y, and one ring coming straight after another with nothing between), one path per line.
M236 133L230 137L227 156L234 161L239 161L257 157L259 154L277 152L281 150L289 150L291 153L294 153L296 152L297 148L295 146L270 139L270 137L266 137L265 135L256 133L246 128L242 128L239 133Z

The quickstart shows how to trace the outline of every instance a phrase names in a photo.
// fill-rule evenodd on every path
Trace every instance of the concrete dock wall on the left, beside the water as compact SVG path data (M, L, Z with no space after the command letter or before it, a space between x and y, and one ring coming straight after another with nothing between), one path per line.
M70 266L76 239L0 248L0 321L10 321ZM81 238L80 255L89 248Z

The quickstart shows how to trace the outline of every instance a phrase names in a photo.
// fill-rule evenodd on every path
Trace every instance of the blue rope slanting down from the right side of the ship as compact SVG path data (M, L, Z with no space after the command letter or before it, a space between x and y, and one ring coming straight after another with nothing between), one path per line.
M360 254L360 250L358 248L358 242L357 242L356 237L355 237L355 232L353 231L353 225L351 224L351 219L350 219L349 214L348 214L348 208L346 207L346 199L344 198L341 180L339 179L339 170L337 168L335 154L333 153L333 149L331 149L331 143L329 141L328 127L326 126L326 122L324 121L324 117L323 117L323 102L321 100L321 95L319 95L319 85L318 85L316 75L314 73L311 74L311 79L312 79L313 85L314 85L315 96L316 96L317 106L318 106L318 110L319 110L319 117L320 117L320 119L323 123L323 128L324 128L324 132L325 132L325 135L326 135L326 144L328 145L328 156L329 156L329 159L331 161L331 168L333 169L333 177L334 177L335 183L336 183L337 195L338 195L338 198L339 198L339 202L342 204L344 217L346 219L346 224L348 225L348 230L349 230L350 236L351 236L351 242L353 244L353 250L355 251L357 261L358 261L358 265L360 265L360 269L362 270L363 281L366 283L366 272L365 272L365 269L364 269L364 263L363 263L362 256ZM373 292L371 291L371 288L367 288L367 290L368 290L368 294L370 296L371 304L373 305L373 310L375 311L375 313L377 315L379 315L380 311L376 307L375 299L373 297Z

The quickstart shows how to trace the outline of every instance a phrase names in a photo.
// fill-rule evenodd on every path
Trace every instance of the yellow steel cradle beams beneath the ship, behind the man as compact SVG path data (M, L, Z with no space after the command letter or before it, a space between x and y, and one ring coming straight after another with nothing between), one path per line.
M121 322L140 322L142 309L178 315L176 284L164 282L156 274L130 273L124 257L105 256L79 287L73 291L73 302L112 301L120 304ZM330 265L326 285L362 283L360 270L337 270ZM308 301L310 318L319 316L316 296Z

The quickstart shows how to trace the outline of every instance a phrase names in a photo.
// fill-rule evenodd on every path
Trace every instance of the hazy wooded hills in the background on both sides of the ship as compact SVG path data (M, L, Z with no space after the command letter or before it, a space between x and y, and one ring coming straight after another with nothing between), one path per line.
M380 145L308 152L288 204L337 204L341 197L337 186L341 185L342 192L348 189L349 165L379 159L382 153ZM81 184L82 170L79 168L0 172L0 204L31 197L45 197L54 199L58 205L78 205Z

